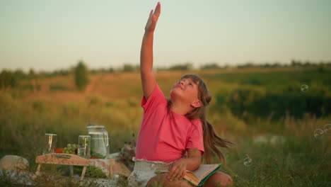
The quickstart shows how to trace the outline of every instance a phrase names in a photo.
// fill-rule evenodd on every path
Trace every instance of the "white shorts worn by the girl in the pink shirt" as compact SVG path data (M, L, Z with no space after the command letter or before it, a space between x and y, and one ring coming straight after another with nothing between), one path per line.
M168 172L171 163L160 161L148 161L146 159L132 159L134 161L134 171L130 174L128 181L129 186L144 187L149 180L157 174Z

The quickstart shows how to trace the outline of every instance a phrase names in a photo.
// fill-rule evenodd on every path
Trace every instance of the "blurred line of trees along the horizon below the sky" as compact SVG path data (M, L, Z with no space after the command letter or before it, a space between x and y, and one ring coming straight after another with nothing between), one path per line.
M245 64L238 64L236 66L220 65L216 62L201 65L198 69L194 69L192 62L185 62L182 64L174 64L170 67L157 67L155 70L160 71L187 71L187 70L209 70L209 69L228 69L228 68L282 68L282 67L298 67L298 68L315 68L318 71L323 72L325 69L331 67L330 62L303 62L300 60L291 60L289 64L280 64L274 62L272 64L255 64L253 62L247 62ZM116 73L116 72L139 72L139 64L125 63L120 68L100 68L100 69L88 69L83 60L80 60L75 67L69 69L57 69L52 72L35 72L34 69L30 69L28 72L24 72L22 69L16 69L14 71L3 69L0 73L0 89L7 87L15 87L18 84L18 80L21 79L39 79L44 77L56 77L66 76L69 74L75 74L75 83L79 90L84 90L88 84L88 74L98 73Z

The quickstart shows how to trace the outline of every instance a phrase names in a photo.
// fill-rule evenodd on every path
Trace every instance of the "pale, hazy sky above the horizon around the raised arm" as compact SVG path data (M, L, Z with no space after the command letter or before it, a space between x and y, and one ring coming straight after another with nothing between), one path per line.
M0 0L0 70L139 64L153 0ZM165 0L154 67L331 60L330 0Z

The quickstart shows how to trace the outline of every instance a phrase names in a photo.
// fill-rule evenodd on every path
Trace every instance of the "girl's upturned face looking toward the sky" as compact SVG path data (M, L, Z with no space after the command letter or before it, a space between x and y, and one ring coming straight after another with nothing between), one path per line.
M191 79L180 79L178 82L173 84L173 87L170 90L170 97L171 99L180 98L181 101L192 104L194 101L199 101L198 85Z

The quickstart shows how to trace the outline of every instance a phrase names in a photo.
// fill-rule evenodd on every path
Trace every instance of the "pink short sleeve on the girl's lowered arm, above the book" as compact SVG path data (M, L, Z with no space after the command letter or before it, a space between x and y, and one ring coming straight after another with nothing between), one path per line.
M204 154L204 133L201 120L193 120L188 132L186 149L199 149Z

